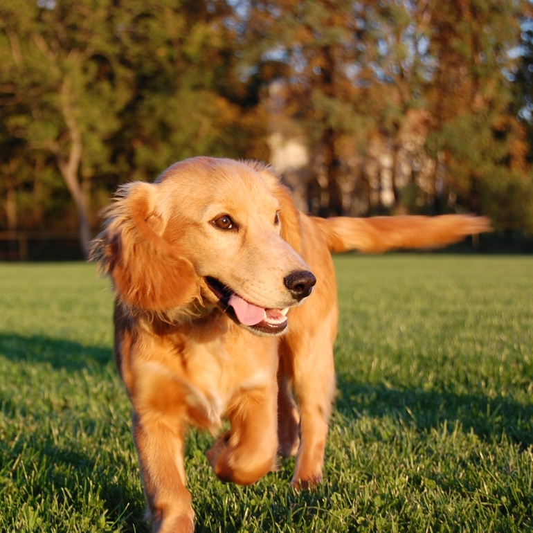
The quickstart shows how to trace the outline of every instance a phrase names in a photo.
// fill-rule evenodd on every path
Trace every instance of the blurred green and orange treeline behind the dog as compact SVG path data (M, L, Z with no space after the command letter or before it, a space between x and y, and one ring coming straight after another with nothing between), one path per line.
M318 215L533 231L517 0L1 0L0 230L78 228L195 155L272 161Z

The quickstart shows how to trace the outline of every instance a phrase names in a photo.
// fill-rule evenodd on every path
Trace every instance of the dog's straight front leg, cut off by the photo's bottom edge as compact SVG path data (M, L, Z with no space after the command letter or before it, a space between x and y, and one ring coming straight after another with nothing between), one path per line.
M185 488L183 427L134 411L134 440L152 517L153 533L192 533L194 512Z

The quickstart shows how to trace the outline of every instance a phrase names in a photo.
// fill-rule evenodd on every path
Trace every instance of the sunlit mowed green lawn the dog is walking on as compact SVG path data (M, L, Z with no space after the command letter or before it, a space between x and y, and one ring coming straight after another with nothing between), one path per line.
M324 482L219 482L197 532L533 530L533 258L344 255ZM91 264L0 264L0 532L146 532L112 295Z

